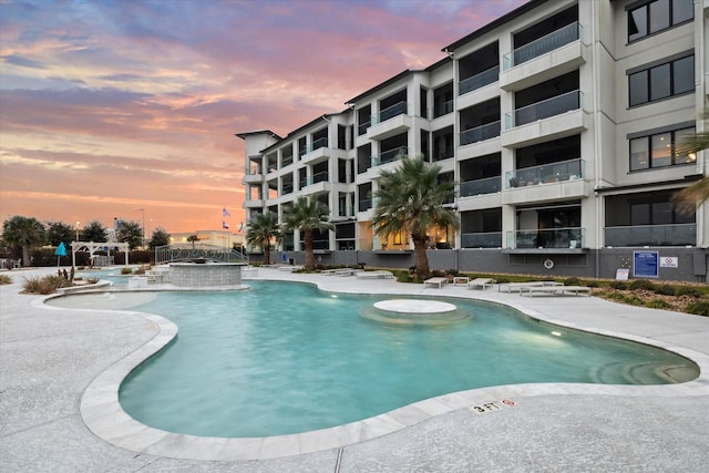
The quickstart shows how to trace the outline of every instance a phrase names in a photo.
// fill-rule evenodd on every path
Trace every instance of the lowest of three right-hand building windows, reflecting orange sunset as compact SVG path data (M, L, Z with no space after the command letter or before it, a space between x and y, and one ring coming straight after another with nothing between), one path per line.
M677 144L695 134L695 128L657 133L630 140L630 171L693 163L693 154L680 154Z

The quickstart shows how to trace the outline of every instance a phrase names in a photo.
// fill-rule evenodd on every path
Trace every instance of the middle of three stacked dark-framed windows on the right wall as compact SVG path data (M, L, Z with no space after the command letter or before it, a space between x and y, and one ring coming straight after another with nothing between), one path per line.
M655 65L628 75L630 106L695 91L695 55Z

